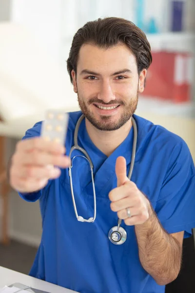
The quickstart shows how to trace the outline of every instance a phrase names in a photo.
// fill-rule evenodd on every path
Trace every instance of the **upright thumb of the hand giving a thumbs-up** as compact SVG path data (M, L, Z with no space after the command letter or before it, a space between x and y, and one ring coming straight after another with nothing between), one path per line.
M129 178L127 177L126 160L124 157L117 158L115 172L117 175L117 187L129 181Z

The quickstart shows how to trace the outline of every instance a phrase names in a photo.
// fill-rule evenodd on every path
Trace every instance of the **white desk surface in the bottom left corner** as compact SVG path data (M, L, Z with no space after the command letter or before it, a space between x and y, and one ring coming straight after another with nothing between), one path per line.
M76 291L65 289L63 287L30 277L23 273L0 267L0 289L13 283L22 283L26 286L49 293L76 293Z

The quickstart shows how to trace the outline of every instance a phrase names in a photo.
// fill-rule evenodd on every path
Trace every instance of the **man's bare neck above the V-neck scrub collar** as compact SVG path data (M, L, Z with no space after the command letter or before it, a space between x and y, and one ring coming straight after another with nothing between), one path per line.
M109 157L128 136L132 127L132 121L130 119L125 125L114 131L98 130L87 119L85 119L85 125L94 145Z

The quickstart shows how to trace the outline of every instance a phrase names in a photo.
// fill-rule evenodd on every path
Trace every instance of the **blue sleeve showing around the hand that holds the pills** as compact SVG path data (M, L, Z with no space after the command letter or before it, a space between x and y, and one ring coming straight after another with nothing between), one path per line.
M41 122L36 123L32 128L26 131L22 140L40 136L40 128L41 128ZM21 192L18 192L18 193L22 199L28 202L35 202L41 197L42 190L39 190L37 192L31 192L31 193L21 193Z

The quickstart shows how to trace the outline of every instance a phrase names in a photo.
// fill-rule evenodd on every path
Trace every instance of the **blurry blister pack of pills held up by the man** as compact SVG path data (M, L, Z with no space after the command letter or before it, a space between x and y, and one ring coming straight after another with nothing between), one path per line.
M48 110L42 122L41 137L46 141L54 141L65 145L68 128L68 113L57 110Z

